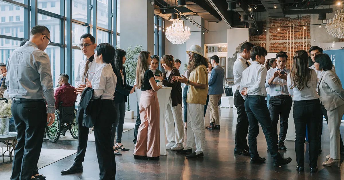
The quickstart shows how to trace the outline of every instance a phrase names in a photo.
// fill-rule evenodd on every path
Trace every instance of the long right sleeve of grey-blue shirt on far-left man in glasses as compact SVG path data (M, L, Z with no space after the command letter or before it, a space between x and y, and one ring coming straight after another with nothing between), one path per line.
M43 95L48 104L48 113L55 113L55 98L53 78L51 76L50 60L46 53L43 53L37 59L35 59L35 65L37 72L40 74L40 81L43 90Z

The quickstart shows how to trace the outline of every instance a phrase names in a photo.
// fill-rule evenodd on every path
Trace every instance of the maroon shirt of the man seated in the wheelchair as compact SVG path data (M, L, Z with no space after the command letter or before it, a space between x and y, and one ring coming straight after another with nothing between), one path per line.
M74 106L77 94L74 93L74 88L69 83L63 84L61 87L56 89L55 98L55 108L58 109L58 105L62 102L61 106L70 107Z

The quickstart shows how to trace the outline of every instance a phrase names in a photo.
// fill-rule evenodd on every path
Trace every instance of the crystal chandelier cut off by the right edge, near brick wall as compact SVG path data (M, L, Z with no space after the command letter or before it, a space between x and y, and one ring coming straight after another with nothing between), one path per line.
M344 38L344 12L343 9L336 11L333 19L326 22L326 31L336 38Z

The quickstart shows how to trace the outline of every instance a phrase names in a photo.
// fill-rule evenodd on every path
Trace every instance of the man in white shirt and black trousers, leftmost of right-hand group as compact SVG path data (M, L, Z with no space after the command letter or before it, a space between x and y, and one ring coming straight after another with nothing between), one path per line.
M235 128L235 148L234 154L250 156L249 148L247 145L247 133L248 133L248 119L245 111L245 100L241 96L240 82L241 74L243 71L249 67L250 62L250 50L254 45L251 43L244 43L241 45L240 54L235 60L233 65L233 75L234 75L234 85L236 86L236 91L234 93L234 106L237 108L237 124Z

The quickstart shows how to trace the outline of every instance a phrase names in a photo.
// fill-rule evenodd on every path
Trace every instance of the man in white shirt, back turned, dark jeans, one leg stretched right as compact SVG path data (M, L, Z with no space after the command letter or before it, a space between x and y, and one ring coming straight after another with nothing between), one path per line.
M245 109L250 128L248 130L248 145L251 154L251 163L264 163L265 158L259 157L257 151L257 136L259 125L263 130L268 145L270 155L273 159L273 166L279 167L291 162L291 158L282 158L277 148L277 134L271 122L270 113L266 105L265 80L267 69L265 68L266 49L255 46L251 49L250 56L252 64L243 72L241 76L240 91L245 98Z

